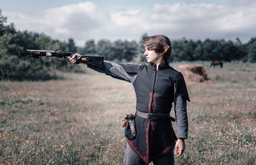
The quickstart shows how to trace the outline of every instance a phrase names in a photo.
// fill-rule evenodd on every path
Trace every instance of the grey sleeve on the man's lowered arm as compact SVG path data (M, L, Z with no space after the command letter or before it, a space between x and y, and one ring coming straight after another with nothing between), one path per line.
M188 138L187 101L181 94L174 96L174 110L177 127L177 138Z

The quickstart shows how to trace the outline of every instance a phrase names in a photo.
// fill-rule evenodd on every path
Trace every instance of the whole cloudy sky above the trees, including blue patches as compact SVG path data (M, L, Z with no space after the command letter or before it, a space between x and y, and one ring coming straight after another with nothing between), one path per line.
M256 37L255 0L0 0L2 15L20 31L54 39L135 39L143 32L170 39Z

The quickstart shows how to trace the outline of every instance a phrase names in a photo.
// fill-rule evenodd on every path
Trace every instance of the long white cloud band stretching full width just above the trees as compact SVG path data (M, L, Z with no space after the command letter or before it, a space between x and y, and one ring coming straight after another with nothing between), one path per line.
M239 4L239 5L238 5ZM155 4L152 9L111 13L86 2L51 8L38 13L3 13L17 29L56 39L74 38L78 45L87 39L140 39L143 32L165 34L172 39L252 38L256 29L256 3L233 0L229 5Z

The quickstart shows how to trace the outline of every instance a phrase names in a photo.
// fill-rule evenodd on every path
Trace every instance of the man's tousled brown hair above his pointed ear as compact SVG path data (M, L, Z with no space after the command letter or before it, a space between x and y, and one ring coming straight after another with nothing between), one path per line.
M154 50L157 54L164 52L164 47L168 47L168 50L164 53L164 61L169 61L172 54L172 45L168 37L163 35L149 36L143 40L144 47L148 50Z

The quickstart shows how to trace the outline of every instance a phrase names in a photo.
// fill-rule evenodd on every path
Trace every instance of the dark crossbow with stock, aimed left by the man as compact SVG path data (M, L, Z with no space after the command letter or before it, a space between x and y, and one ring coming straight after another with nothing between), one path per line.
M28 52L20 53L18 52L17 55L21 56L29 56L33 57L34 60L31 63L33 66L36 59L41 60L41 67L43 66L43 60L40 58L42 56L46 57L59 57L63 59L67 59L67 57L72 57L72 52L64 52L62 49L57 50L27 50ZM67 59L67 61L71 64L71 62ZM76 57L76 64L84 63L90 64L92 66L102 68L103 67L104 56L103 55L81 55Z

